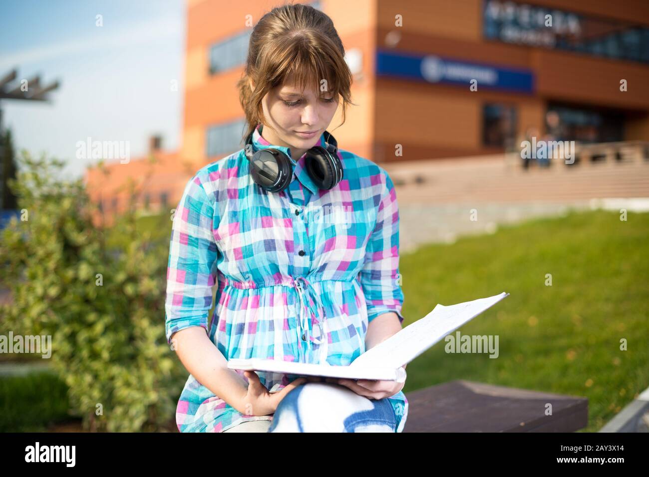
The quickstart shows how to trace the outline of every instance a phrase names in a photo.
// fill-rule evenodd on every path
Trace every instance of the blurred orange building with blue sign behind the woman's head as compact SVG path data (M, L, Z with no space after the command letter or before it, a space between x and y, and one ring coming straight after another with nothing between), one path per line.
M334 134L360 156L495 154L530 130L582 143L649 139L646 0L304 3L332 17L345 45L359 106ZM175 207L195 170L243 147L236 82L252 30L246 19L275 5L188 0L182 145L156 150L152 204L166 198ZM339 110L330 131L340 121ZM143 165L110 169L110 180L93 172L89 184L97 197L101 184L104 209L119 211L124 197L112 190L141 180Z

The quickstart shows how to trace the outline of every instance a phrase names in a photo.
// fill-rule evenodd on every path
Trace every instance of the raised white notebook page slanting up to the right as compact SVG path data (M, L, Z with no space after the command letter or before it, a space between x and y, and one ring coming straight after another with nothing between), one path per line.
M465 301L456 305L437 305L432 312L411 323L386 341L379 343L369 351L358 356L349 366L400 367L428 348L432 347L447 334L461 327L467 321L492 307L508 293Z

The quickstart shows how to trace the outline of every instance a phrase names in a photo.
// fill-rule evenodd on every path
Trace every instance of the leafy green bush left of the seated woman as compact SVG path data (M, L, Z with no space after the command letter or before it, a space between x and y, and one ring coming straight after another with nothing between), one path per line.
M19 163L10 187L23 217L0 243L0 280L13 295L0 325L51 335L52 367L87 430L164 428L187 377L164 334L164 247L138 235L129 207L111 231L125 240L110 248L83 181L57 178L62 161L23 151Z

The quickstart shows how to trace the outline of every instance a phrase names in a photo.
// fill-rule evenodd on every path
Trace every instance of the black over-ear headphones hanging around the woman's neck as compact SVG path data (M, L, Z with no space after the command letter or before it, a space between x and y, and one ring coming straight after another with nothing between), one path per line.
M259 126L262 133L263 126ZM283 151L276 148L262 148L252 154L252 134L245 140L245 157L250 163L250 174L262 189L269 192L284 191L291 183L293 165ZM306 152L304 167L318 189L332 189L343 179L343 165L338 157L338 143L328 131L325 139L326 148L315 145Z

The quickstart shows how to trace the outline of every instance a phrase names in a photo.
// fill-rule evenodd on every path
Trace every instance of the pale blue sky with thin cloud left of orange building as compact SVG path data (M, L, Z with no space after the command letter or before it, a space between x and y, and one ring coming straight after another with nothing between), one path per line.
M60 82L50 102L0 100L14 145L66 159L71 176L95 162L75 157L89 136L130 141L131 157L145 154L150 134L177 149L185 29L184 0L0 0L0 76L15 67L18 80Z

